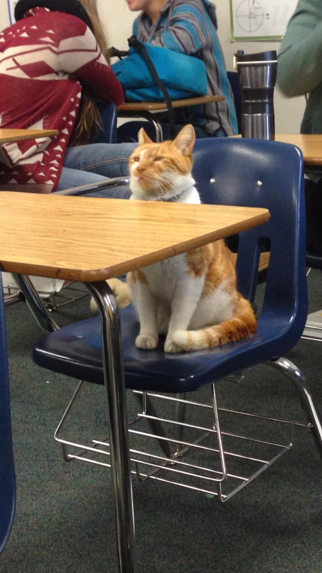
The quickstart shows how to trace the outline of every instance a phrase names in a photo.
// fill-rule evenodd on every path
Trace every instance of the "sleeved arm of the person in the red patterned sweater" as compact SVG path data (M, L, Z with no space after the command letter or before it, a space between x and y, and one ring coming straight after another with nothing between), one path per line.
M98 47L90 29L79 18L74 18L70 37L59 44L58 61L61 69L88 85L102 101L116 105L124 103L124 92L112 68Z

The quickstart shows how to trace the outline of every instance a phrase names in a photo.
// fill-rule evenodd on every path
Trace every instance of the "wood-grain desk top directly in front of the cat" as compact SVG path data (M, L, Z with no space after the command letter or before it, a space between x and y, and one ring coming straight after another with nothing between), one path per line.
M0 266L98 281L269 219L267 209L0 193Z

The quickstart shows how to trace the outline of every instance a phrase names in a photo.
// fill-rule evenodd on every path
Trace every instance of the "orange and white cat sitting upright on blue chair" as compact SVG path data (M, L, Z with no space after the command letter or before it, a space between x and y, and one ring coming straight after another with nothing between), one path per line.
M192 177L194 139L192 125L163 143L153 143L141 129L129 160L131 199L200 203ZM156 348L165 334L165 352L200 350L256 330L223 240L134 270L127 280L140 319L138 348Z

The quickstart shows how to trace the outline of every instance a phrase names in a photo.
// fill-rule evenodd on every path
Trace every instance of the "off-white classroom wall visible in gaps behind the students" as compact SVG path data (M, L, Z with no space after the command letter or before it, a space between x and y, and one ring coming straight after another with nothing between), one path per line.
M97 0L101 20L108 35L108 44L127 49L126 38L132 34L132 22L136 13L130 12L125 0ZM280 42L232 42L230 41L229 0L217 0L218 36L224 52L226 68L233 69L233 54L237 49L245 53L278 50ZM9 26L7 0L0 0L0 29ZM287 99L275 89L275 127L278 133L298 133L304 113L304 97Z

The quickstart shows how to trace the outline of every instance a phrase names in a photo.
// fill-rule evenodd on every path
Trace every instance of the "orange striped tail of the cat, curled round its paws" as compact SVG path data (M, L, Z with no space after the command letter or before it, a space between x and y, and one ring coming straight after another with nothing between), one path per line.
M200 330L177 330L173 332L173 342L182 351L189 352L213 348L251 336L256 331L256 319L251 304L248 300L241 298L238 310L239 312L232 319L214 326Z

